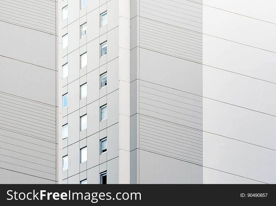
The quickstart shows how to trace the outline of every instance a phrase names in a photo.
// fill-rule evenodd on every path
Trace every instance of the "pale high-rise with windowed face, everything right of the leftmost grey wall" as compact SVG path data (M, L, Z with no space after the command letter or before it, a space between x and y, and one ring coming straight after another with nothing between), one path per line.
M273 6L60 1L63 183L275 183Z

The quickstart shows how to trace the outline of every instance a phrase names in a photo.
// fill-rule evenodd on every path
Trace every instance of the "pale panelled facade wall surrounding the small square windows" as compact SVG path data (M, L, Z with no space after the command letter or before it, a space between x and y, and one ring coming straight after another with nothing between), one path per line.
M127 4L128 3L128 4ZM130 182L130 34L129 1L59 2L59 12L68 5L68 18L60 18L59 39L60 98L68 93L68 107L60 111L61 126L68 124L68 138L62 140L68 155L63 183L99 183L107 171L107 183ZM108 11L107 24L100 26L100 14ZM87 22L87 35L80 26ZM62 49L62 36L68 34L68 47ZM107 41L108 53L101 57L100 44ZM80 68L80 55L87 52L87 66ZM68 63L68 77L62 79L62 65ZM100 87L100 75L107 72L108 83ZM80 86L87 83L87 97L80 98ZM60 99L60 106L62 100ZM100 121L100 107L107 104L107 119ZM80 117L87 114L87 129L81 131ZM126 126L128 125L128 127ZM62 135L62 134L60 134ZM107 152L100 154L100 140L107 137ZM87 146L87 161L80 163L80 149ZM120 175L123 174L123 175Z

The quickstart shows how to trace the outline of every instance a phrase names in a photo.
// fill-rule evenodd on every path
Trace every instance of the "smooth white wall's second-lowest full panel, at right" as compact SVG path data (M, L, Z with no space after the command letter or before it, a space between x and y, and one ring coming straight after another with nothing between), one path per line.
M206 108L203 114L204 131L276 149L276 140L272 138L276 133L274 116L207 98L203 100L203 107Z

